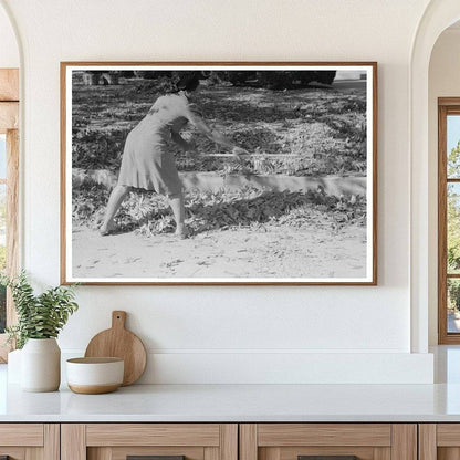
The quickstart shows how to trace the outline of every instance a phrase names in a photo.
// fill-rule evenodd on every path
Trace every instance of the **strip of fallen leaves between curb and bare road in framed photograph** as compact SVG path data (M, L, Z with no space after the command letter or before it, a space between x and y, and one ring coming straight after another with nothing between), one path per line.
M108 192L101 186L75 190L74 223L97 229L107 199ZM136 230L146 236L172 232L176 227L168 200L146 191L130 192L115 221L122 232ZM255 188L186 192L186 224L194 234L210 230L260 229L264 224L295 228L315 224L336 230L346 224L365 223L366 200L360 196L337 198L321 190L304 194Z

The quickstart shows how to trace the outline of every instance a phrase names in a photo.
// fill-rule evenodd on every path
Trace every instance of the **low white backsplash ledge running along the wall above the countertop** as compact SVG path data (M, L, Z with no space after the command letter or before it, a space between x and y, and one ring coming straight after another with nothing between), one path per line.
M81 353L77 351L63 351L63 358L79 355L81 356ZM146 372L138 383L432 384L433 355L155 351L148 354Z

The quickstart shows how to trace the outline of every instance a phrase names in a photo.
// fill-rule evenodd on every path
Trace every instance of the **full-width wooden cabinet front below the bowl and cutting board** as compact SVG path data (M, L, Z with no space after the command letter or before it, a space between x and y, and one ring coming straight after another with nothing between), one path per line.
M67 424L62 460L238 460L236 424Z

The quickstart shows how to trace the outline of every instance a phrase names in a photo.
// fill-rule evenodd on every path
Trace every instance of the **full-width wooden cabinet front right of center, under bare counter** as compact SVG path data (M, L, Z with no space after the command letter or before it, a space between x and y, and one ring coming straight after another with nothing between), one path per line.
M417 460L417 425L244 424L240 460Z

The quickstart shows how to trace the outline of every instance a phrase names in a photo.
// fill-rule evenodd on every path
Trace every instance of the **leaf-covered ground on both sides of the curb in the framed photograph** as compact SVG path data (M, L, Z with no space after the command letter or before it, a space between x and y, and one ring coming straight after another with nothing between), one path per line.
M73 167L117 174L125 138L163 94L161 82L121 80L121 85L73 85ZM205 119L254 157L243 161L210 155L226 153L188 127L200 153L175 151L179 171L258 175L365 175L366 97L363 90L266 88L209 85L197 102ZM73 189L73 220L96 229L108 192L96 184ZM278 222L302 226L313 219L332 227L365 226L364 196L241 189L187 190L187 224L194 233ZM171 232L166 199L137 190L117 215L121 231Z

